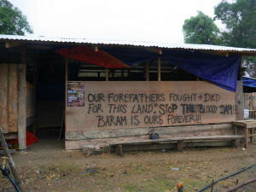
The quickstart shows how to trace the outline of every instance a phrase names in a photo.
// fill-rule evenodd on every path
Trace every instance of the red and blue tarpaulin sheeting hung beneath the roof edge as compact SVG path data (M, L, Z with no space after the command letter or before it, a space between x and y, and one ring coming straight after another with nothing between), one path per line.
M73 46L55 49L55 52L79 61L108 68L137 67L137 63L151 61L158 57L193 73L225 90L236 91L239 55L229 57L210 55L196 51L163 49L162 54L146 49L101 48L94 51L89 47Z

